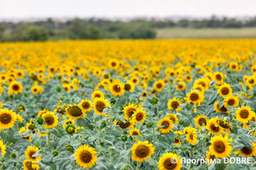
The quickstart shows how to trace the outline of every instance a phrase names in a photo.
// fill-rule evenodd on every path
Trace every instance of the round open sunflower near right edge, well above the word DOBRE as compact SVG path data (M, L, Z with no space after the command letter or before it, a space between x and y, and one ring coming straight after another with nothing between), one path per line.
M242 105L241 107L237 108L236 111L236 118L239 122L247 123L252 120L254 116L254 112L249 106Z

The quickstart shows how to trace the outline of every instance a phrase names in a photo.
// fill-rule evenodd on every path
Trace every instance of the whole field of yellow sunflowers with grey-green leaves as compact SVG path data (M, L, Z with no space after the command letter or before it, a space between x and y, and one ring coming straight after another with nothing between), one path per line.
M1 43L0 169L255 169L255 54L256 40Z

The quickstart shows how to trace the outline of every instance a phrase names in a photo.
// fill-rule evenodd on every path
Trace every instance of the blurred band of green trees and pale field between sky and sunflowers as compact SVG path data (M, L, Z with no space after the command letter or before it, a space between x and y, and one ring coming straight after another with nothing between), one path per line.
M0 42L60 39L147 39L255 37L256 17L250 20L55 20L0 23Z

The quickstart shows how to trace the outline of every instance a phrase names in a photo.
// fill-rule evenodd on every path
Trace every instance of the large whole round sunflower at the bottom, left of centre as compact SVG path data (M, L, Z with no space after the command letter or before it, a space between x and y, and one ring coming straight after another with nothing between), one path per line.
M88 145L80 145L78 150L75 151L75 160L80 167L88 168L93 167L97 162L96 151Z

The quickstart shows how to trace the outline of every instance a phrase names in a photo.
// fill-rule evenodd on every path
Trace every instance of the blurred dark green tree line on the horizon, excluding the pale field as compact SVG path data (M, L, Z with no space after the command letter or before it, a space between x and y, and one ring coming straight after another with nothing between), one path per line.
M218 19L212 16L208 20L102 20L73 19L58 22L45 21L0 22L0 41L46 41L59 39L147 39L156 36L155 29L169 27L183 28L241 28L256 26L256 17L249 20L229 18Z

